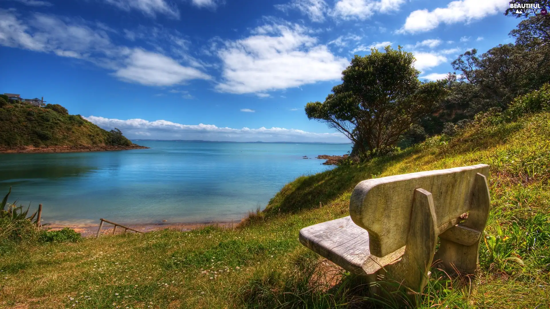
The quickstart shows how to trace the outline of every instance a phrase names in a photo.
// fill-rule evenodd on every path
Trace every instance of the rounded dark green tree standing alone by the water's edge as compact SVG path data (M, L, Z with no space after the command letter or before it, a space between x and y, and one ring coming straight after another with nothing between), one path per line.
M446 92L445 80L420 82L414 62L401 47L355 56L342 72L342 84L323 103L306 104L307 117L347 136L354 143L352 154L385 151Z

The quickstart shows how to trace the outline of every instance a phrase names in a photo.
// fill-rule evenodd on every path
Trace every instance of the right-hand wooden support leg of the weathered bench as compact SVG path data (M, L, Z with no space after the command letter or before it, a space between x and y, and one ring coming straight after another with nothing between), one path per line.
M491 207L491 196L489 195L489 186L485 175L477 173L472 192L470 213L466 222L460 223L465 227L483 231L489 217L489 208ZM480 239L474 244L466 246L454 241L441 239L439 249L437 250L436 261L438 267L443 268L448 273L474 274L477 270Z

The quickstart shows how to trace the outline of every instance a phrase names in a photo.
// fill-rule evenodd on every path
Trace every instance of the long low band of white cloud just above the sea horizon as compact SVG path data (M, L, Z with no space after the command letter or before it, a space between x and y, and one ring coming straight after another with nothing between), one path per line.
M297 129L259 128L232 129L218 128L216 125L185 125L166 120L149 122L144 119L109 119L103 117L85 117L103 129L118 128L130 139L164 140L210 140L210 141L264 141L264 142L349 142L340 133L311 133Z

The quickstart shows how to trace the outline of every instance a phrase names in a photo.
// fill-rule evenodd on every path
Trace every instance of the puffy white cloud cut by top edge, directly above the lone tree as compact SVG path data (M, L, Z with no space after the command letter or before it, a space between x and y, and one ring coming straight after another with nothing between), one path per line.
M397 11L403 3L405 0L338 0L329 14L344 20L365 20L375 13Z

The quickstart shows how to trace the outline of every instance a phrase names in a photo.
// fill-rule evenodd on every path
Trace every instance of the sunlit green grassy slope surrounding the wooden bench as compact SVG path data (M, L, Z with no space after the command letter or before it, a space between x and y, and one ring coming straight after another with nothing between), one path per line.
M18 246L0 258L0 307L399 307L307 250L298 231L348 215L361 180L486 163L492 209L477 276L432 269L420 307L550 306L550 113L477 123L392 157L302 176L239 228L208 227ZM319 208L319 202L323 207ZM78 302L76 302L78 301Z

